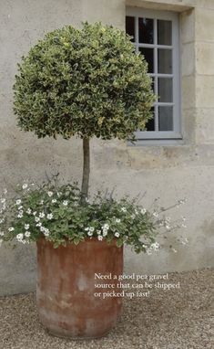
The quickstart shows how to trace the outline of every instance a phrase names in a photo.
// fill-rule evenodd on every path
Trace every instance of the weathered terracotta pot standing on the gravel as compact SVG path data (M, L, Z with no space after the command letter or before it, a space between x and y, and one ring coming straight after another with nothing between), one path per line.
M113 289L95 288L98 284L114 284L117 280L95 280L95 273L123 273L123 248L116 241L107 244L87 238L77 246L53 248L40 238L37 241L36 301L41 323L49 333L74 338L97 338L105 335L117 322L122 297L104 298ZM94 293L101 292L101 297Z

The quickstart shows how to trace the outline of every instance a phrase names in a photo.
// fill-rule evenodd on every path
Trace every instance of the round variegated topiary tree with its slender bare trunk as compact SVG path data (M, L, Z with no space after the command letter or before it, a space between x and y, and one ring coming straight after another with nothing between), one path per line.
M148 64L125 32L100 23L46 34L15 76L18 126L40 137L83 139L82 195L87 196L89 140L134 140L154 101Z

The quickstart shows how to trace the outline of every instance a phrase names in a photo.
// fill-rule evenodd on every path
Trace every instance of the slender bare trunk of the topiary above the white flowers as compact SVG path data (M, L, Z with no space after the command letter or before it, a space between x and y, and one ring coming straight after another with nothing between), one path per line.
M90 174L90 147L89 138L83 138L83 180L82 180L82 200L85 201L88 195L88 184Z

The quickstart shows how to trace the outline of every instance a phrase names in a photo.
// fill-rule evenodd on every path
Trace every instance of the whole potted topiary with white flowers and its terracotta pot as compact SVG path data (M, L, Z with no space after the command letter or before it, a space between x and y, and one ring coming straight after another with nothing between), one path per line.
M144 207L127 198L88 199L90 139L133 141L134 132L145 128L154 101L147 73L129 37L100 23L46 34L19 65L18 126L39 138L83 140L81 190L25 183L10 204L1 198L2 239L36 241L38 312L50 333L77 338L107 333L121 298L96 299L95 273L121 274L125 243L137 252L158 249L157 218ZM10 217L4 217L6 206Z

